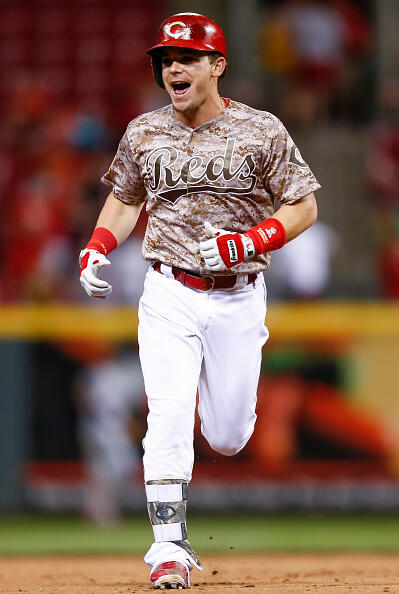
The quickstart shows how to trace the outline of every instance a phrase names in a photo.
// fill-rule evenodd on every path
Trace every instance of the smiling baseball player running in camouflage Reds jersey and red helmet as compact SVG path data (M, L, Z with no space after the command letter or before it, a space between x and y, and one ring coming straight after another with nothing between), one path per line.
M99 273L145 204L139 349L155 541L145 561L155 588L187 588L192 567L201 569L186 529L197 389L203 435L222 454L239 452L254 429L268 338L262 271L313 224L320 186L275 116L219 95L226 40L216 23L173 15L147 53L171 103L129 123L102 177L112 192L80 279L92 297L111 293Z

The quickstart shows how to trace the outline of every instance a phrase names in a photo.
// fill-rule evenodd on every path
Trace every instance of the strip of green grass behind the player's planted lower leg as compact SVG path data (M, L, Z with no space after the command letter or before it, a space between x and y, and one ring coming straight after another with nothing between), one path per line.
M189 537L211 552L399 552L399 516L249 515L189 518ZM152 541L145 516L109 528L77 517L0 516L0 555L139 554Z

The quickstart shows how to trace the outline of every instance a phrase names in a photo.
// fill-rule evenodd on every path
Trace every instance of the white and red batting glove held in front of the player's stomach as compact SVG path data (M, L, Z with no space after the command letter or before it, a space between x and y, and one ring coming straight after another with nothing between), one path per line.
M227 270L255 254L253 241L249 237L217 229L208 221L204 227L210 239L200 242L200 254L208 270Z

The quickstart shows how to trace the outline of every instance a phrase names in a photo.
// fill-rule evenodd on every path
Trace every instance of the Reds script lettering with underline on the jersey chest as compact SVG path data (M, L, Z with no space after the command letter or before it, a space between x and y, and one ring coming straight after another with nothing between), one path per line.
M200 156L190 157L183 162L180 171L174 177L172 165L179 156L172 146L163 146L153 150L147 157L146 170L151 175L151 190L160 198L174 204L187 194L250 194L256 184L255 160L251 153L245 155L236 169L233 168L235 138L229 138L223 154L211 157L207 162ZM227 182L217 184L217 181ZM239 180L241 185L229 185ZM168 189L159 192L160 187Z

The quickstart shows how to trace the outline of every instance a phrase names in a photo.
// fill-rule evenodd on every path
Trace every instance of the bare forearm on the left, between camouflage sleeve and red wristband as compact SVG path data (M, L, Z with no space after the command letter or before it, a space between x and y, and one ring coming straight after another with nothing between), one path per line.
M127 239L136 226L143 203L125 204L111 192L105 201L96 223L96 229L105 228L110 231L117 244L120 245Z

